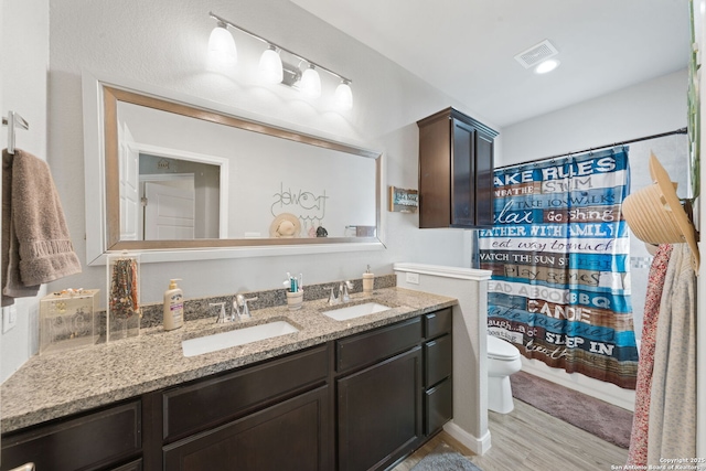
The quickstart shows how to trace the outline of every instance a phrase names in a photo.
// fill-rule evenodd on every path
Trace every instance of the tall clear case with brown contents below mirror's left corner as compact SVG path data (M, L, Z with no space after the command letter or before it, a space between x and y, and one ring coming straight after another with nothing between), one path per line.
M140 334L140 260L130 254L107 257L107 341Z

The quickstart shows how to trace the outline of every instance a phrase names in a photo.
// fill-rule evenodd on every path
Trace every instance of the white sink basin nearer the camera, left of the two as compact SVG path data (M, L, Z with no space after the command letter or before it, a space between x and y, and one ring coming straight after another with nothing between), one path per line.
M181 347L184 352L184 356L196 356L295 332L299 332L299 329L289 322L275 321L266 324L253 325L250 328L234 329L227 332L184 340L181 342Z

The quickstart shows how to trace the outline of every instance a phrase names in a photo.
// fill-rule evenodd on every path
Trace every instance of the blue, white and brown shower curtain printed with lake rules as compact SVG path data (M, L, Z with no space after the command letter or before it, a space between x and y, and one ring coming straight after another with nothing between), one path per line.
M628 148L494 172L494 225L479 232L492 270L489 333L568 373L634 389Z

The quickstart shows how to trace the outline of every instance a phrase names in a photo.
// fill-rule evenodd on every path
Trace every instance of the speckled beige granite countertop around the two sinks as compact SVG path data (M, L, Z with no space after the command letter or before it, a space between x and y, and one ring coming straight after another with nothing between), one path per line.
M347 321L321 314L323 310L367 300L393 309ZM142 329L139 336L131 339L35 355L0 387L0 430L4 433L105 406L456 303L453 298L386 288L372 296L351 295L349 303L333 308L325 299L304 301L298 311L290 311L287 306L254 310L246 322L215 324L215 318L201 319L170 332L161 327ZM274 320L287 320L299 332L199 356L185 357L182 353L182 340Z

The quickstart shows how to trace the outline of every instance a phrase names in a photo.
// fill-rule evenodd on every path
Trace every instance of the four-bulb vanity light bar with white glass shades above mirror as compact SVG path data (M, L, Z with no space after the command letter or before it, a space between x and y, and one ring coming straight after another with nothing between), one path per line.
M330 68L323 67L307 57L297 54L286 47L280 46L258 34L253 33L237 24L210 12L208 15L216 20L216 28L211 33L208 40L208 51L211 54L220 58L227 65L234 65L236 58L235 40L227 30L233 28L256 40L267 44L267 50L260 56L259 69L265 82L270 84L284 84L295 88L299 88L307 96L317 98L321 95L321 77L319 71L327 72L341 79L341 84L335 89L334 101L341 109L351 109L353 107L353 92L351 90L350 78L338 74ZM224 33L227 35L224 35ZM282 53L295 58L299 65L292 65L282 61ZM306 65L302 71L301 64Z

